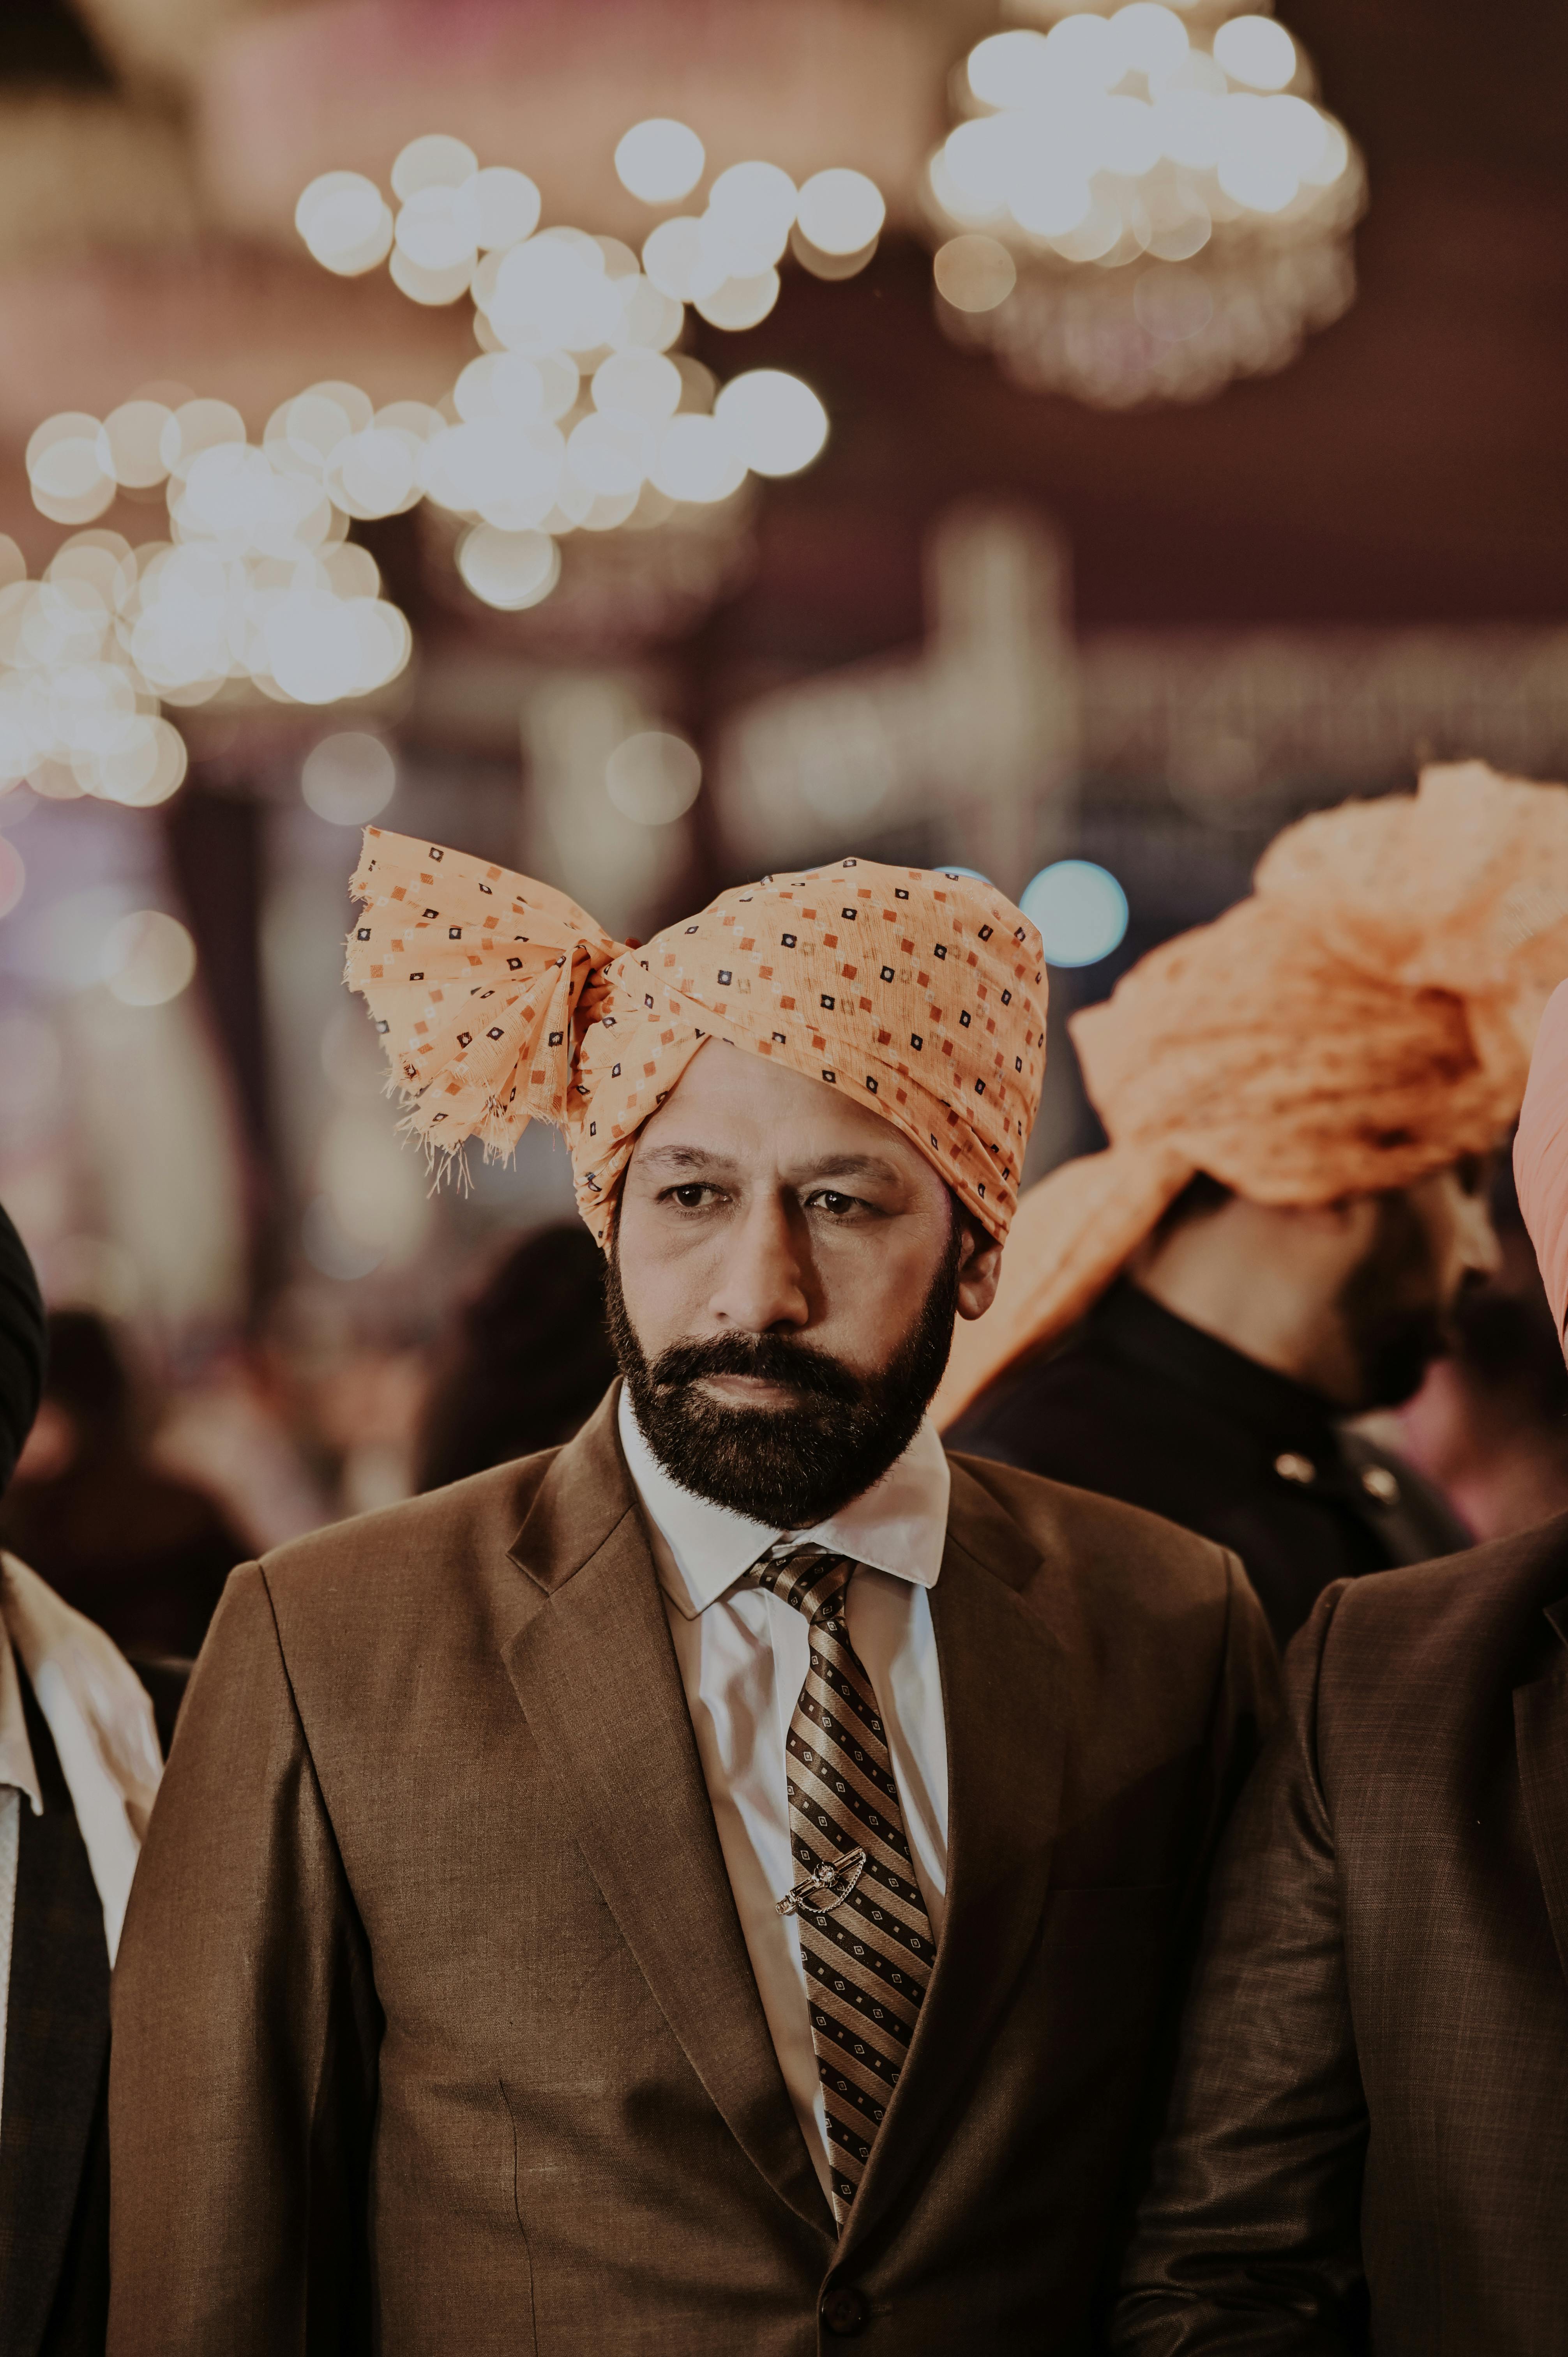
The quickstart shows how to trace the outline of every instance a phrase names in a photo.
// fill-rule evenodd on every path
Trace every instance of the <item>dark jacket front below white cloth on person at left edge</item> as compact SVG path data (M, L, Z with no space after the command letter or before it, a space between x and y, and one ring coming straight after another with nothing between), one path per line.
M0 1643L5 1636L0 1633ZM87 1850L42 1711L21 1681L42 1817L21 1803L0 2093L0 2350L40 2348L94 2133L104 2133L108 1945ZM106 2251L75 2251L106 2289Z

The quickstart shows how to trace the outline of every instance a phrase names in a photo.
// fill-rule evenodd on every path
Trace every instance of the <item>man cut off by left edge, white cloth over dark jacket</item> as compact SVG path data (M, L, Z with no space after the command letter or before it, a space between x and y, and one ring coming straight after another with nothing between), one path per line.
M0 1211L0 1490L42 1391L45 1315ZM0 2350L101 2357L108 1970L160 1758L108 1638L0 1553Z

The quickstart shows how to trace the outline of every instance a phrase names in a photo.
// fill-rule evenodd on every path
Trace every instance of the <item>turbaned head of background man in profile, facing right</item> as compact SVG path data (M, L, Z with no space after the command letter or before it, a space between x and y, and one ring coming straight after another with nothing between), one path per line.
M1408 1398L1495 1266L1478 1174L1566 969L1568 787L1464 761L1285 827L1245 900L1073 1018L1111 1143L1026 1193L946 1417L1122 1273L1339 1407ZM1219 1195L1172 1228L1195 1178Z

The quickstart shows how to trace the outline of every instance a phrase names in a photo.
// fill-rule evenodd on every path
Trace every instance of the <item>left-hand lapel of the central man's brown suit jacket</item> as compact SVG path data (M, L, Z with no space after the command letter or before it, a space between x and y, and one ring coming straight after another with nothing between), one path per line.
M778 2069L611 1400L512 1544L507 1676L578 1846L686 2060L790 2209L832 2232ZM521 1586L521 1584L519 1584Z

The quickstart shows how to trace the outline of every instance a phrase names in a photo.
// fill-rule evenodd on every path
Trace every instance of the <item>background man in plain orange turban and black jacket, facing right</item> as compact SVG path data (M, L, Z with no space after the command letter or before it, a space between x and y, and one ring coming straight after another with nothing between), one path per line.
M1412 1398L1497 1266L1488 1157L1566 896L1563 787L1434 768L1290 827L1080 1014L1111 1148L1023 1197L950 1442L1233 1546L1280 1645L1327 1582L1469 1544L1342 1419Z

